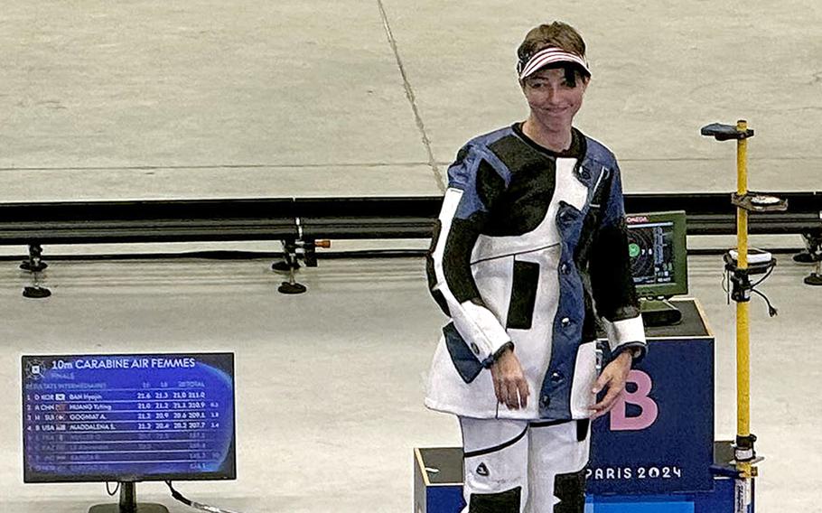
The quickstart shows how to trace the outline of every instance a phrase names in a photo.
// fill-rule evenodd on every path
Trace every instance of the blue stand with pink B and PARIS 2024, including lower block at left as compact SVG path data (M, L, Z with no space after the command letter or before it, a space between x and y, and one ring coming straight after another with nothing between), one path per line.
M714 442L714 336L694 299L647 328L648 356L593 422L586 513L733 512L733 449ZM415 450L415 513L459 513L462 449Z

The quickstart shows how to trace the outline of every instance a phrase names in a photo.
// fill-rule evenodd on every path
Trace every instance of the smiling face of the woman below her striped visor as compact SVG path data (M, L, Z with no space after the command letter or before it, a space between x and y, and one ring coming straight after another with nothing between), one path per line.
M551 131L570 130L587 87L578 74L569 82L562 68L539 70L522 82L532 117Z

